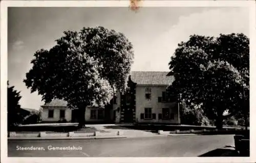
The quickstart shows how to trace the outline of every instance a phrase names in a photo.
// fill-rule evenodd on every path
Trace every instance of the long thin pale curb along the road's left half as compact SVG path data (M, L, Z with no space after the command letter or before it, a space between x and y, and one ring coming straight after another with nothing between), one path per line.
M120 139L127 138L124 136L109 136L109 137L10 137L8 140L88 140L88 139Z

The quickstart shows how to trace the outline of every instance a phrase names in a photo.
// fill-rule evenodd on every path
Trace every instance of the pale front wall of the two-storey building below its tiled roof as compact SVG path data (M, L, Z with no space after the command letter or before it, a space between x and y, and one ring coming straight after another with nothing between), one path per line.
M145 98L145 88L151 88L151 100ZM167 86L166 86L167 87ZM136 87L136 121L137 122L158 122L158 123L178 123L178 107L172 108L175 106L175 102L164 103L158 102L158 97L162 97L162 92L166 90L165 86L137 86ZM145 107L152 108L152 114L156 114L156 119L145 120L140 119L140 114L144 113ZM174 120L159 120L158 114L162 114L162 108L172 108L170 113L174 113Z

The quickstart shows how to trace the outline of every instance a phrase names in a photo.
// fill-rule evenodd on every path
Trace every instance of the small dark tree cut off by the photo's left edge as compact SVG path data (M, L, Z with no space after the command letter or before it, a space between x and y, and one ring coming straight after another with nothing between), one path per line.
M14 86L9 87L7 82L7 124L8 128L16 126L22 122L23 117L19 115L20 105L19 100L22 98L20 92L14 89Z

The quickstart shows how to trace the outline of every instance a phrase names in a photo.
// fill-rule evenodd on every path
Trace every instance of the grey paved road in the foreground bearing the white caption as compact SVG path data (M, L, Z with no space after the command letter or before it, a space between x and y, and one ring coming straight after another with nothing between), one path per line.
M19 147L44 147L41 150L17 150ZM79 150L53 151L52 147L79 147ZM231 148L224 148L231 146ZM183 135L102 140L8 141L9 157L168 157L234 156L233 135ZM211 151L211 152L210 152ZM209 153L210 152L210 153ZM230 155L231 154L231 155Z

